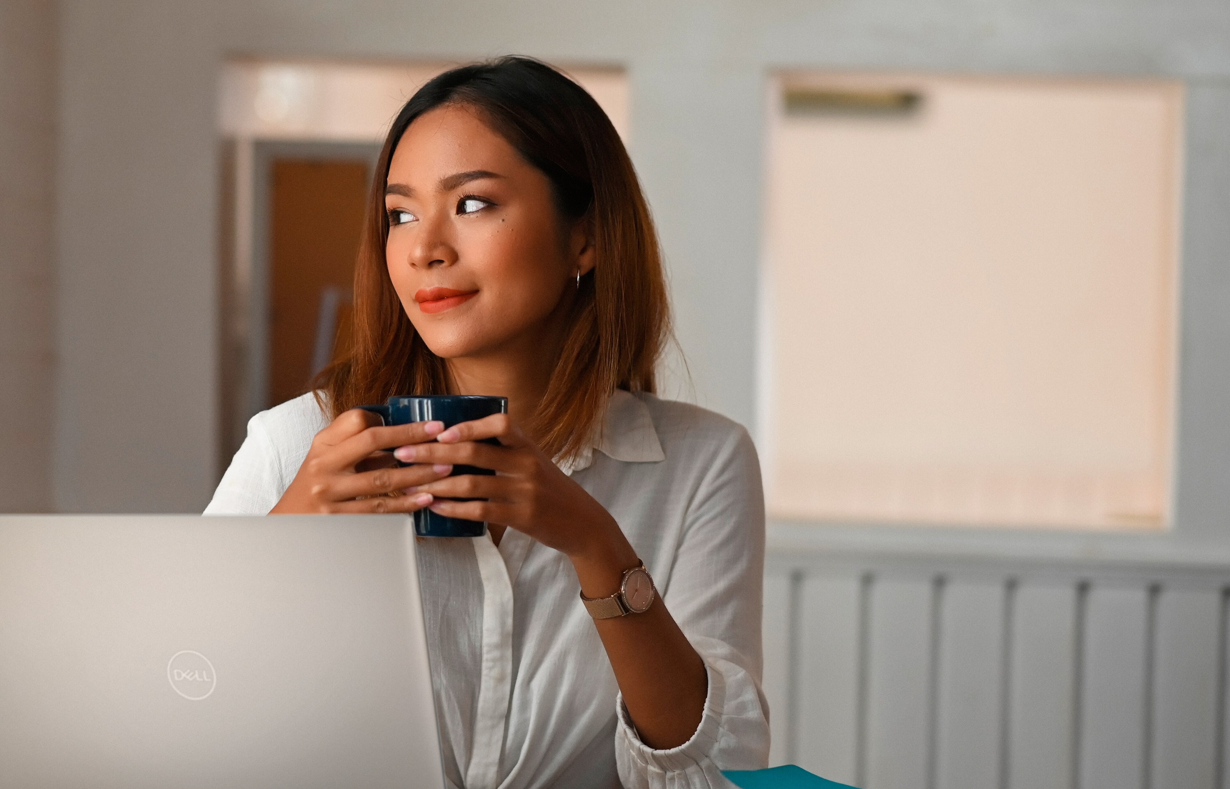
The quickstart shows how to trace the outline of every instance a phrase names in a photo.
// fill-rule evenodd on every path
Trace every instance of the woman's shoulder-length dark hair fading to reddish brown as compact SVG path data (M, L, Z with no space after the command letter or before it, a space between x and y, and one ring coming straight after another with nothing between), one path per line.
M380 151L354 271L354 330L346 356L312 382L336 417L399 394L450 394L448 364L415 331L389 278L385 185L402 134L423 113L464 105L550 180L562 223L587 222L595 251L567 316L562 353L529 433L549 457L576 458L615 389L656 389L669 336L667 286L649 208L606 113L556 69L522 57L445 71L406 102Z

